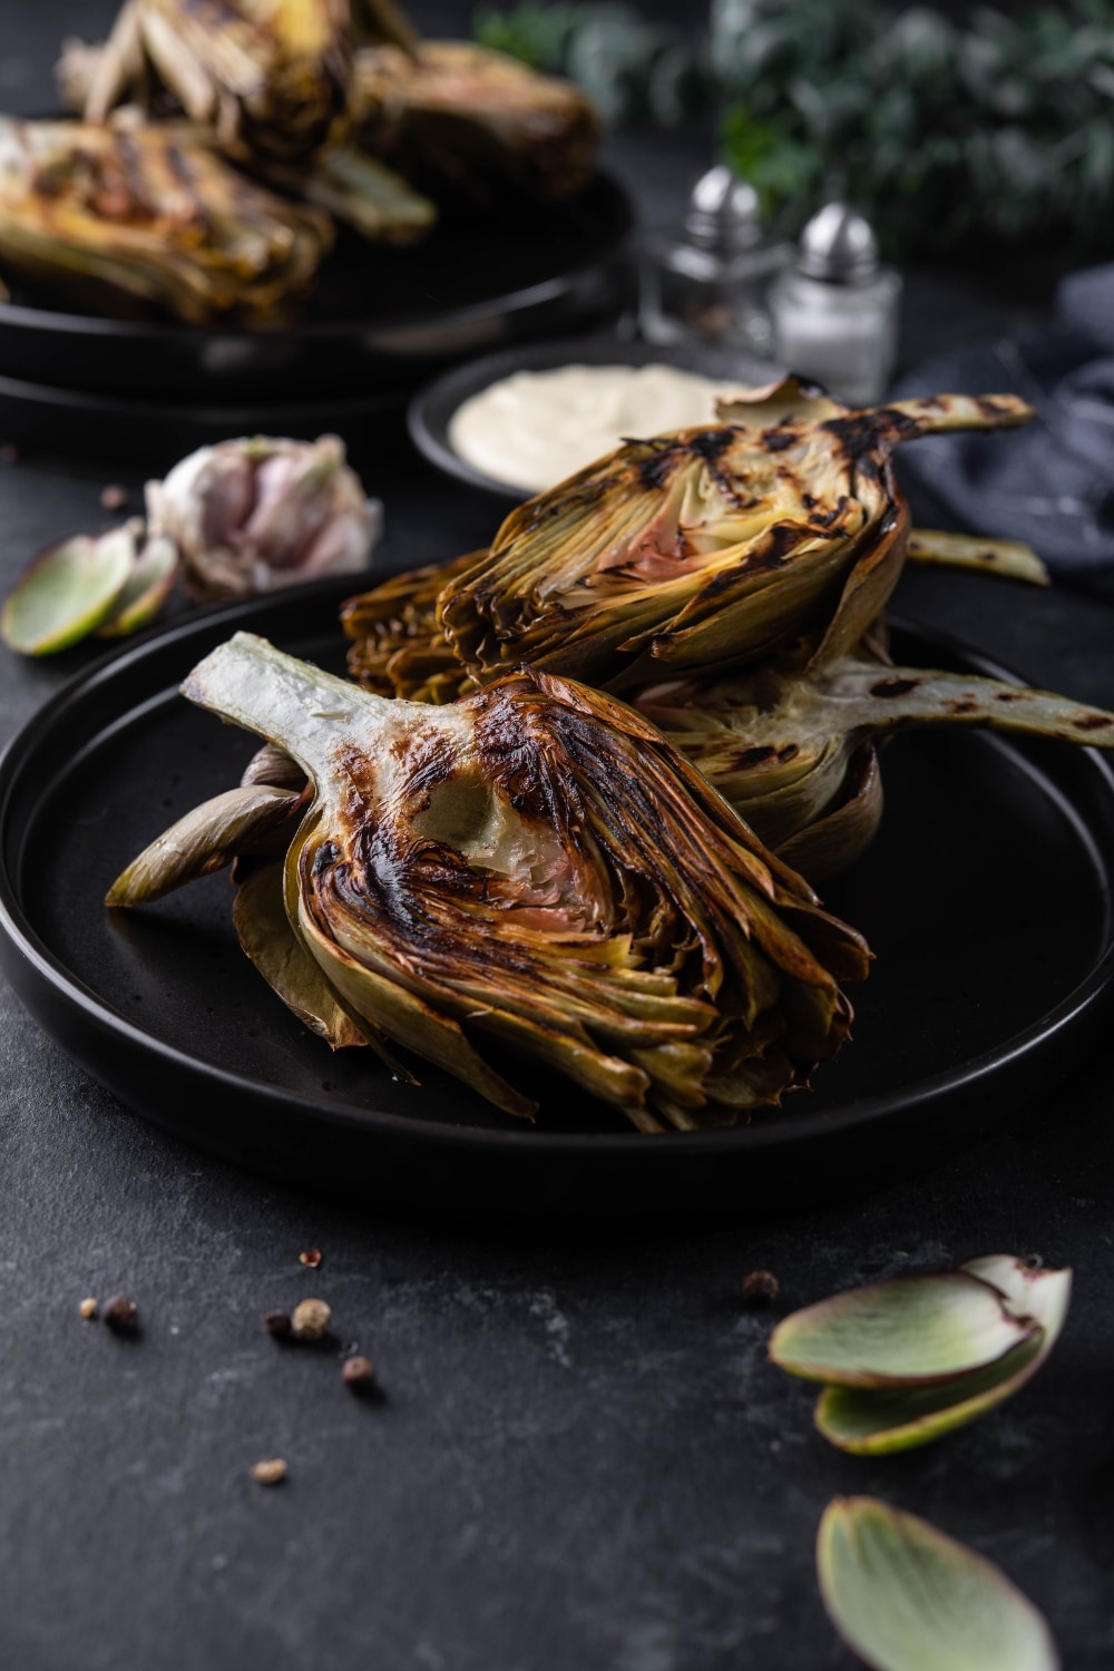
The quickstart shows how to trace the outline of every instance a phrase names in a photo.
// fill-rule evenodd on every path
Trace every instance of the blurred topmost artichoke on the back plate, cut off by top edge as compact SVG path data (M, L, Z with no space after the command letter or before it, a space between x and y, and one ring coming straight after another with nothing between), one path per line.
M352 62L349 0L125 0L87 60L84 114L104 122L165 89L237 160L299 162L347 134Z

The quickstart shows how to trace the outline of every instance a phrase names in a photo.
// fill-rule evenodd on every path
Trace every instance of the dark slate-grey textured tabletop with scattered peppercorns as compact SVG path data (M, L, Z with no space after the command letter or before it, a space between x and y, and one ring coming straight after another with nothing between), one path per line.
M3 10L2 97L30 110L48 99L50 42L110 7ZM701 154L623 139L611 160L665 224ZM917 276L905 361L1041 306L1024 271L1005 287ZM125 461L117 475L137 485ZM104 480L45 458L0 470L0 587L45 540L102 520ZM384 568L489 533L486 503L404 455L367 486L386 500ZM925 573L899 603L1114 705L1111 608ZM3 735L85 660L3 652ZM1056 911L1056 876L1032 886ZM1067 1671L1114 1663L1104 1061L917 1183L767 1223L608 1235L571 1210L499 1228L274 1190L149 1130L5 991L0 1018L5 1671L847 1668L812 1576L837 1492L877 1492L1000 1561ZM324 1252L316 1273L307 1247ZM1020 1399L885 1462L813 1435L813 1392L765 1364L770 1318L738 1298L757 1265L783 1310L992 1250L1076 1267L1062 1343ZM119 1288L140 1305L135 1342L77 1313ZM374 1357L384 1402L346 1394L332 1348L264 1335L262 1312L307 1293ZM289 1462L277 1491L247 1477L267 1455Z

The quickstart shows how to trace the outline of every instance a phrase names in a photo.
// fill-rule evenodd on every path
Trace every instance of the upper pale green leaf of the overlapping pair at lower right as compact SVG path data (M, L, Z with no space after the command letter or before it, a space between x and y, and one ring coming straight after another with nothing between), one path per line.
M1037 1328L997 1288L952 1270L848 1288L793 1312L773 1330L770 1359L837 1387L924 1387L997 1364Z

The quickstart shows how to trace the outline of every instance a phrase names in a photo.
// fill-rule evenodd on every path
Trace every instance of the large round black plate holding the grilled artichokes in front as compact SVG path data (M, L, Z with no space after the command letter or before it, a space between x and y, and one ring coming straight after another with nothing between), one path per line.
M737 1131L638 1136L546 1083L536 1126L423 1068L331 1056L259 981L227 877L102 909L157 830L235 780L254 744L175 695L234 628L339 665L342 585L152 633L65 687L0 782L0 952L32 1014L157 1125L237 1163L366 1196L571 1213L800 1201L924 1166L1046 1096L1109 1009L1114 775L1094 750L920 734L887 754L872 852L827 889L877 952L855 1039L815 1089ZM987 663L899 628L902 660Z

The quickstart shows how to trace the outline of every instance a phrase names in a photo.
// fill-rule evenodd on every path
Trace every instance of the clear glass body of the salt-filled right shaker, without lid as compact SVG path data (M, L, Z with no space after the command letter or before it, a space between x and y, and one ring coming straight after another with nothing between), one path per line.
M770 289L773 349L787 371L815 378L848 406L882 399L897 358L900 274L833 282L788 267Z

